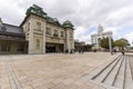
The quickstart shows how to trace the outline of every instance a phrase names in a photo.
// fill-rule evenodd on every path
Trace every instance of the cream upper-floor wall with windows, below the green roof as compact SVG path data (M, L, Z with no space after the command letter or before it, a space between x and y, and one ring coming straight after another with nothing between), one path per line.
M38 18L35 16L30 16L27 21L23 23L23 30L25 32L25 39L29 40L30 34L38 34L43 38L52 38L57 40L64 40L66 39L66 29L54 26L51 23L45 22L44 19ZM73 30L69 29L69 38L73 40Z

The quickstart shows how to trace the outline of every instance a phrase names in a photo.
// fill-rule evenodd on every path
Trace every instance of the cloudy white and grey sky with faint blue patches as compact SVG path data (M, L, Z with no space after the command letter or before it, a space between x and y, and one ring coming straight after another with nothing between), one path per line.
M114 40L125 38L133 42L133 0L0 0L0 18L20 26L32 4L42 7L61 23L70 20L79 41L91 43L91 34L102 24L104 31L113 31Z

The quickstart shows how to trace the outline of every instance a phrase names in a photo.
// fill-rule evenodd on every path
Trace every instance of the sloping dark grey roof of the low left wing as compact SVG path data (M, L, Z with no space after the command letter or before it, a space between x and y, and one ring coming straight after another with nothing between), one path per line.
M0 27L0 31L4 30L4 32L10 33L18 33L18 34L24 34L23 29L17 26L2 23L2 27Z

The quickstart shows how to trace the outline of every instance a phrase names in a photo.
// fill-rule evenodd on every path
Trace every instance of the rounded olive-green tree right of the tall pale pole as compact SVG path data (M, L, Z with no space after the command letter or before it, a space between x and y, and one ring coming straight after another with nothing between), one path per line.
M130 46L129 41L124 38L121 38L119 40L115 40L115 46L119 47L120 49L124 49L124 47Z

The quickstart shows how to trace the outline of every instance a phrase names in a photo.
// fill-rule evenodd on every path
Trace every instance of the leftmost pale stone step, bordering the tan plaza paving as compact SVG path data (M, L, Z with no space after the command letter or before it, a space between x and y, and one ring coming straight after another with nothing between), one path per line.
M120 59L120 58L121 58L121 56L113 57L113 58L111 59L111 61L105 62L105 65L102 65L101 67L99 67L98 69L95 69L94 71L92 71L92 72L90 73L90 76L92 76L91 79L92 79L92 80L95 79L95 78L96 78L101 72L103 72L110 65L112 65L114 61L116 61L116 59Z

